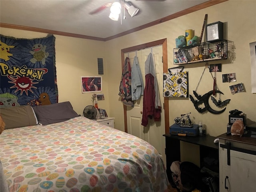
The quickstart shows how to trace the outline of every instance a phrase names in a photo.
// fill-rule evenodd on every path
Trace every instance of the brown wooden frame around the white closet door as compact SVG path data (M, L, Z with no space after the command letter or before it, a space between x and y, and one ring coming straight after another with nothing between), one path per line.
M125 53L133 52L136 50L142 50L142 49L146 49L146 48L150 48L150 47L154 47L154 46L160 46L160 45L162 45L162 49L163 49L163 61L162 61L163 62L163 72L167 73L168 72L167 38L122 49L121 50L122 70L124 67L123 64L124 64L124 60L125 60L125 58L124 58ZM128 132L127 131L127 107L126 107L126 105L123 105L123 107L124 107L124 132L127 133ZM169 130L169 98L168 97L164 97L163 110L164 110L165 134L169 134L170 130Z

